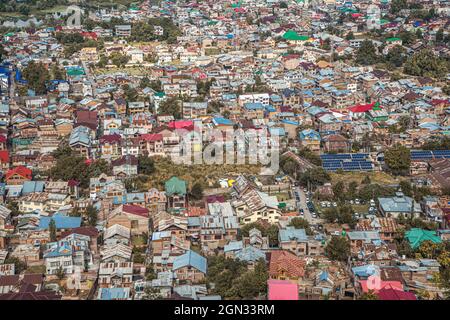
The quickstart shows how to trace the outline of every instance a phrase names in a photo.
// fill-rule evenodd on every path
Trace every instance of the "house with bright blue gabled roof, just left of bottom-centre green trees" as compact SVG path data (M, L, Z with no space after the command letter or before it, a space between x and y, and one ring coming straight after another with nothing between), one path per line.
M198 253L189 250L175 258L172 270L180 281L199 283L206 276L206 259Z

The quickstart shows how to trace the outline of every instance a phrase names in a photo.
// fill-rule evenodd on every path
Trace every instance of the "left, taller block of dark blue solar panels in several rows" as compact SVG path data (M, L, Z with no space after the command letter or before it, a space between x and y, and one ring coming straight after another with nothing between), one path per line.
M368 153L323 154L322 167L327 171L372 171L373 163Z

